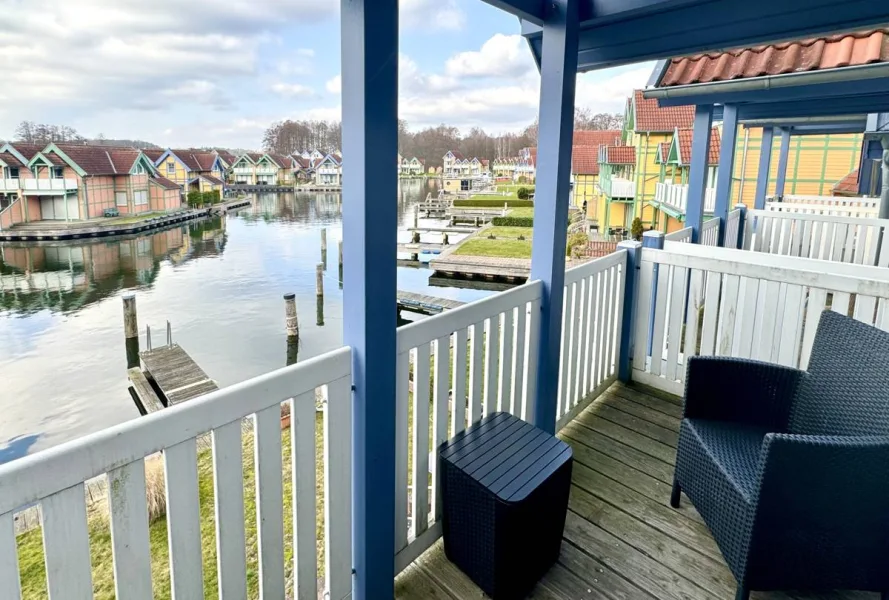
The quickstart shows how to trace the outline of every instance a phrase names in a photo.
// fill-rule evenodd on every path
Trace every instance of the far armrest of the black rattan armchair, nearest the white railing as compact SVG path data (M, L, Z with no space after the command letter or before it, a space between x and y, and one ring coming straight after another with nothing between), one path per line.
M805 371L741 358L692 356L684 416L784 431Z

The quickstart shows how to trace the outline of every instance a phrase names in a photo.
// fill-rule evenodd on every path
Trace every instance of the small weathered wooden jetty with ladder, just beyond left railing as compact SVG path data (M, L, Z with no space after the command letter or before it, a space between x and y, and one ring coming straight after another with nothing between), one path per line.
M219 389L179 344L139 353L145 376L153 380L167 406L173 406Z

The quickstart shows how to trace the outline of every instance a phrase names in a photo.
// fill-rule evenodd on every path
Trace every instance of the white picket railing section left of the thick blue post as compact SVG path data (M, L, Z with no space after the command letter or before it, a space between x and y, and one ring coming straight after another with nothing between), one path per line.
M13 514L33 503L49 597L93 597L84 482L107 474L116 596L150 600L145 459L161 451L173 597L203 598L197 460L204 433L212 439L220 597L245 597L242 419L251 415L260 594L318 597L315 390L323 386L323 593L350 597L351 352L341 348L0 466L0 598L21 597ZM291 410L295 590L285 590L282 402Z

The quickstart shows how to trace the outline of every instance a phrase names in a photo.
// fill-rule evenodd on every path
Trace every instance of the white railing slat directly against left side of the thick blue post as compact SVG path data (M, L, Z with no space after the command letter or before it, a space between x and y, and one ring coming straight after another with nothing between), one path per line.
M324 577L330 599L342 600L352 592L351 376L329 383L327 396L324 411L324 540L327 544ZM426 422L429 422L428 418Z

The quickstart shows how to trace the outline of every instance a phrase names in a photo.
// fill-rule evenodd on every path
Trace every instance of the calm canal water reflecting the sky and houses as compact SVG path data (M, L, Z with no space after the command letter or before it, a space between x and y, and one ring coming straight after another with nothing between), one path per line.
M425 181L403 184L402 227L429 191ZM286 364L287 292L297 296L299 359L341 346L341 215L339 194L267 194L227 217L131 239L0 244L0 463L138 417L127 392L125 294L136 294L143 349L145 326L161 345L169 320L173 340L220 386ZM319 326L322 228L328 269ZM399 241L409 237L401 232ZM463 301L491 293L430 287L430 274L399 267L399 289Z

